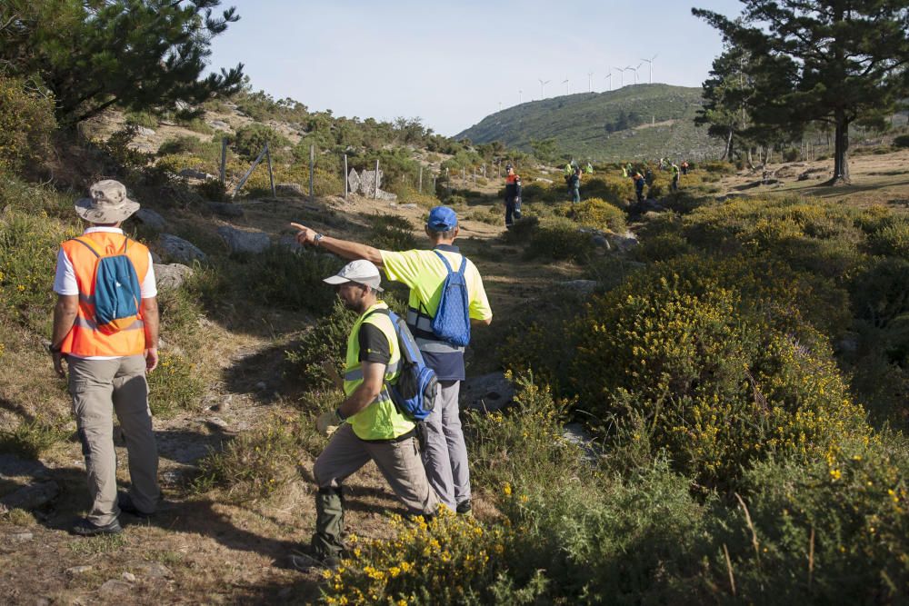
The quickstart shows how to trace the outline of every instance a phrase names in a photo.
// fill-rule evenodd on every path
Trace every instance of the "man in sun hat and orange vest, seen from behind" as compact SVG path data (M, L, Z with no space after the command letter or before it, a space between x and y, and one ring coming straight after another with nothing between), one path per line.
M116 181L98 182L91 197L75 203L90 226L61 244L54 291L50 351L56 373L69 371L69 392L85 455L88 516L75 534L122 531L121 512L155 512L158 453L148 407L145 373L158 364L158 306L152 256L126 237L120 224L139 209ZM114 413L129 455L131 488L117 495Z

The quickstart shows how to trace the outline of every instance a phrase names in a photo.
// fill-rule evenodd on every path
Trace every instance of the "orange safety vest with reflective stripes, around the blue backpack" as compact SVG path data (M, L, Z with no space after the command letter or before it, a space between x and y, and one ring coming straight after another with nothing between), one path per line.
M90 239L95 249L105 255L122 254L126 236L120 233L93 232L85 233L81 239ZM76 239L62 243L61 248L73 264L75 282L79 286L79 309L75 323L66 334L60 345L62 353L72 353L80 357L91 356L127 356L145 352L145 326L142 323L142 312L135 323L126 326L116 333L105 333L95 324L95 271L100 261L88 246ZM135 267L139 283L145 281L148 273L148 249L134 240L126 247L126 256Z

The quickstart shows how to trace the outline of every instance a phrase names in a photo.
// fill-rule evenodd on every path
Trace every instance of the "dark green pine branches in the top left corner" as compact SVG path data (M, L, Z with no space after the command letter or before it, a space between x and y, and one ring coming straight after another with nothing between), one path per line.
M145 110L235 92L243 65L202 77L211 42L239 16L220 0L4 0L0 64L54 94L61 123L111 105Z

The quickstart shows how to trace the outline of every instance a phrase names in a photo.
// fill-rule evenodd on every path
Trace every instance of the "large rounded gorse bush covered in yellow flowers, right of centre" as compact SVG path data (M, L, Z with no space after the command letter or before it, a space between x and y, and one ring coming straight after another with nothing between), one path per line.
M816 456L866 432L823 337L710 278L695 283L635 274L572 326L579 405L624 426L619 442L646 439L698 482L734 485L768 452Z

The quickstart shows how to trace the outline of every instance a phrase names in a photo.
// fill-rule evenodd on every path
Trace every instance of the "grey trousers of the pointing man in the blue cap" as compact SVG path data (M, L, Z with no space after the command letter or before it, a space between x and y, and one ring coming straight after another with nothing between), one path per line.
M423 464L430 485L439 499L454 512L459 503L470 501L470 470L467 446L458 411L460 381L440 381L435 409L426 418Z

